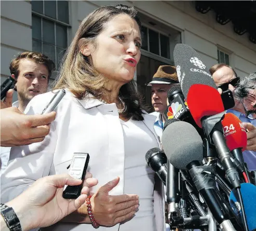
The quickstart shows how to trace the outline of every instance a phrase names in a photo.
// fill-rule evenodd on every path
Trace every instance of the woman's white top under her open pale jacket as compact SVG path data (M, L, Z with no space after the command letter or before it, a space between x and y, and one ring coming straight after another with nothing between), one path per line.
M143 121L120 119L125 144L124 193L139 196L139 208L129 221L121 223L119 231L155 231L156 224L153 208L155 172L145 161L146 152L158 147L154 134Z

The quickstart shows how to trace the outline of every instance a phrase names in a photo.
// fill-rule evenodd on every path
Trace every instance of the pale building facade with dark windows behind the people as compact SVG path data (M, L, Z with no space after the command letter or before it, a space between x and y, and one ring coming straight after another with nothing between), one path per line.
M93 10L110 4L139 11L143 46L135 80L148 104L150 88L145 83L159 65L174 64L177 43L193 47L208 69L225 62L240 77L256 72L256 45L248 34L236 34L232 22L219 24L214 11L198 12L194 1L1 1L1 83L10 75L10 61L19 52L43 52L59 68L79 23Z

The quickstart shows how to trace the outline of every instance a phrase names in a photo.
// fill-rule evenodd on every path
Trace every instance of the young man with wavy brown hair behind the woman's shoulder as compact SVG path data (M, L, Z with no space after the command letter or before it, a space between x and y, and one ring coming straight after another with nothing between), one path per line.
M50 76L55 71L55 63L42 53L28 51L13 59L9 69L11 77L17 80L14 90L17 91L18 101L12 103L12 106L23 113L35 96L47 91ZM1 173L7 166L10 149L1 147Z

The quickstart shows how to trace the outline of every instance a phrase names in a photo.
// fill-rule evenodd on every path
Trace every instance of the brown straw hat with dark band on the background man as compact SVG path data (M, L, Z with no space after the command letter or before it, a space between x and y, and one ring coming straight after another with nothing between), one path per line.
M145 85L152 86L152 84L179 84L176 67L170 65L159 66L152 81Z

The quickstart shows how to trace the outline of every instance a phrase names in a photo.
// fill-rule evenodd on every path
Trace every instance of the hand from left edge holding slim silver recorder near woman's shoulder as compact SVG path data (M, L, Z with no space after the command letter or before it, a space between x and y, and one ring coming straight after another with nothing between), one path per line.
M56 112L24 115L16 107L1 109L1 146L11 147L41 142L49 134Z

